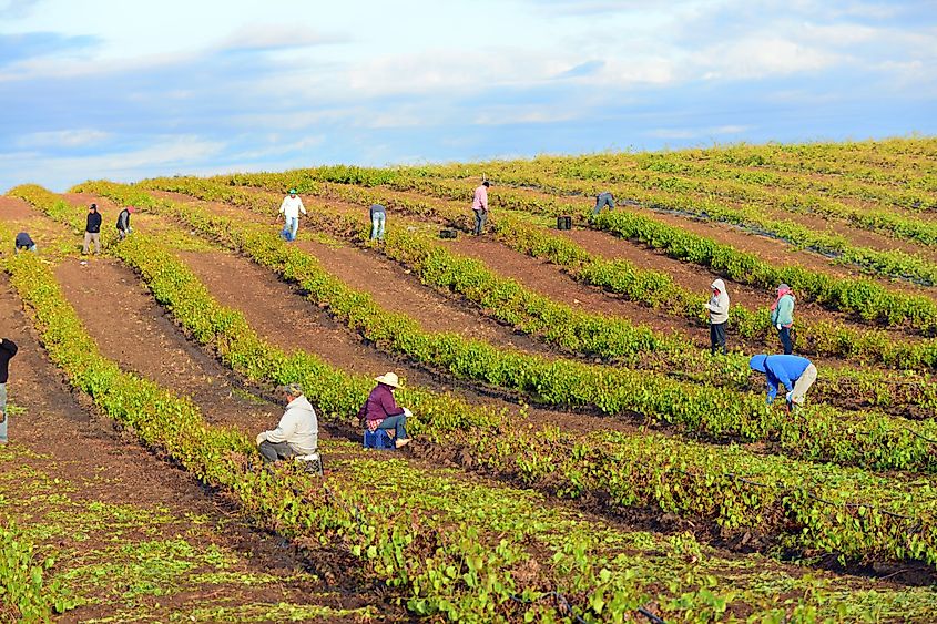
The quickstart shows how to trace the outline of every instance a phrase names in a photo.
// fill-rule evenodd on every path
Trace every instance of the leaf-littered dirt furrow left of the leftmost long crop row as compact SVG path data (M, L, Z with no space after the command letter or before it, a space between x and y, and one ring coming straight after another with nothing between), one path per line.
M218 499L210 497L187 473L169 467L136 442L125 431L120 431L110 420L98 416L90 399L73 396L61 372L48 360L22 310L22 304L13 291L6 275L0 275L0 315L6 319L6 337L13 339L19 352L10 364L8 392L10 403L18 409L10 415L10 447L7 453L14 453L16 461L0 461L0 478L7 483L3 493L7 504L4 514L19 520L21 526L38 529L48 522L55 533L62 523L59 514L81 514L98 510L98 515L129 514L141 518L165 518L147 528L146 521L134 531L125 530L121 535L114 526L102 526L101 531L84 524L81 531L53 538L49 543L40 542L41 552L60 554L59 562L45 572L47 579L75 570L77 566L100 565L106 571L105 562L99 561L102 551L119 548L120 552L147 552L161 543L185 542L194 553L217 553L212 556L228 556L224 574L230 579L269 580L258 584L238 584L233 581L211 581L207 576L197 584L186 583L179 587L174 574L159 577L156 570L147 571L149 593L135 600L128 597L131 587L112 586L123 576L118 572L103 575L85 573L85 581L74 587L75 594L88 604L65 613L62 622L83 622L95 617L130 617L134 608L142 610L147 617L166 621L172 614L195 612L200 608L234 608L238 605L249 608L269 610L287 605L325 605L336 610L358 608L379 601L376 595L364 596L347 591L335 592L316 576L302 572L305 559L301 559L282 540L266 533L251 530L232 515L232 510ZM106 317L106 314L99 316ZM35 454L39 453L39 454ZM48 475L58 479L58 485L43 497L34 485L18 491L7 478L14 478L16 471L23 474ZM48 481L45 481L48 483ZM58 492L55 491L58 490ZM63 502L63 497L69 501ZM32 502L23 507L22 501ZM82 511L71 511L69 504L78 504ZM120 510L124 511L120 511ZM47 515L48 514L48 515ZM38 534L43 534L39 531ZM95 554L96 553L96 554ZM231 553L231 555L224 554ZM322 570L329 566L334 555L323 551L319 556ZM89 569L90 570L90 569ZM205 570L208 572L208 570ZM125 573L124 573L125 574ZM179 574L176 571L175 575ZM135 583L140 579L123 582ZM69 584L69 581L65 581ZM114 594L114 590L118 593ZM120 592L125 592L121 597ZM136 602L136 604L134 604ZM381 606L381 610L390 608ZM119 615L121 614L121 615ZM399 618L396 615L391 618ZM334 620L337 612L330 617ZM346 618L342 618L346 620ZM349 617L347 620L356 620Z

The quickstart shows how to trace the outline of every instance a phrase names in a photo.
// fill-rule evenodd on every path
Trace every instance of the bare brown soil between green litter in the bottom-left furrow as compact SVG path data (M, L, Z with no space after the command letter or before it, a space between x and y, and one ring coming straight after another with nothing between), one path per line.
M10 401L26 409L26 413L10 417L10 440L42 454L38 458L24 456L16 467L26 463L50 478L60 479L63 489L69 491L69 498L84 505L124 504L153 510L153 513L169 513L179 521L163 525L160 539L184 539L196 549L216 545L240 554L231 572L281 577L277 583L256 587L206 583L189 589L182 595L162 596L147 607L155 620L167 620L172 613L196 605L268 604L273 607L287 602L355 608L380 600L375 594L368 597L347 591L332 592L315 576L297 574L306 566L305 557L298 557L293 549L285 548L281 539L251 530L217 499L206 495L189 474L167 467L126 433L119 433L109 420L89 408L90 400L83 396L73 397L60 371L45 358L31 321L23 314L6 275L0 276L0 314L7 319L4 335L19 346L19 352L10 365ZM0 462L0 470L8 467L13 464ZM4 493L13 501L30 495L29 492L9 489ZM16 507L13 503L8 510ZM35 522L37 508L29 509L29 512L21 519L21 524ZM193 526L187 514L204 516L206 522L203 526ZM144 538L152 539L136 539ZM108 539L109 535L91 533L88 540L77 535L47 548L91 554L105 548ZM132 539L128 535L128 540ZM323 551L323 561L327 560L327 555ZM68 561L59 565L68 566ZM47 575L54 574L57 570L58 565ZM326 591L330 593L324 594ZM80 606L60 621L80 622L113 616L115 610L123 606L106 601L100 605ZM387 605L380 608L394 618L401 617L399 611L391 611Z

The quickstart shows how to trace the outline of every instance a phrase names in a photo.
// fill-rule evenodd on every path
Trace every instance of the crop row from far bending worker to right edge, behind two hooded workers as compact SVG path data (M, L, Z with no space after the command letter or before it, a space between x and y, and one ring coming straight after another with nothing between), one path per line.
M444 198L467 201L470 188L465 183L430 180L420 176L407 176L393 170L365 170L360 167L319 167L299 170L283 174L236 174L222 176L233 184L251 184L267 187L286 183L303 184L313 188L320 182L340 182L375 186L388 184L398 190L417 191L421 194ZM582 215L585 217L591 206L572 203L560 197L542 197L521 191L493 188L490 194L491 205L556 216L560 214ZM893 293L868 279L836 278L799 266L773 266L755 254L740 252L730 245L715 243L704 236L695 235L682 228L670 226L632 211L602 213L603 217L614 216L627 219L629 232L636 232L629 238L639 241L652 248L663 250L670 257L690 260L706 266L717 273L726 273L733 266L744 267L735 272L737 278L751 286L771 289L781 282L787 282L802 298L816 301L833 310L855 314L865 323L885 325L907 324L925 334L937 334L937 303L920 295ZM607 222L593 224L604 229L612 229ZM644 236L641 233L646 232ZM706 248L710 253L693 254L692 249ZM717 252L717 254L715 253ZM757 270L755 270L757 269Z

